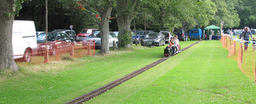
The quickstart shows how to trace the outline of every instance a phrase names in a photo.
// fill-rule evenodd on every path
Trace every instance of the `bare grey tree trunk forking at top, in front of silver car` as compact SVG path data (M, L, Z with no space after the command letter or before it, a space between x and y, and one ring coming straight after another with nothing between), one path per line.
M100 38L101 46L99 53L110 53L109 49L109 21L110 14L113 8L112 0L83 0L86 4L96 9L101 17L100 21Z

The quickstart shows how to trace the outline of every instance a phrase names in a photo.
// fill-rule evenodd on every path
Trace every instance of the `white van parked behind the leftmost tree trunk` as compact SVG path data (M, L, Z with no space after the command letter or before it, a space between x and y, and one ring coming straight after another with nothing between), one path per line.
M36 49L36 31L34 21L13 21L12 48L14 59L31 60L32 50Z

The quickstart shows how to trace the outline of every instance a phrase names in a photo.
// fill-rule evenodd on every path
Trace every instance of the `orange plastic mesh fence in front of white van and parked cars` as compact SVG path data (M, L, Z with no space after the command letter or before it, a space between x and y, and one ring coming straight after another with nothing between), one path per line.
M26 46L24 46L26 47ZM46 50L47 47L47 50ZM95 41L79 41L70 43L65 41L54 41L37 44L37 48L27 48L25 51L19 48L19 54L13 55L17 64L38 64L46 63L48 61L57 61L66 57L83 57L95 54ZM16 52L17 53L17 52Z

